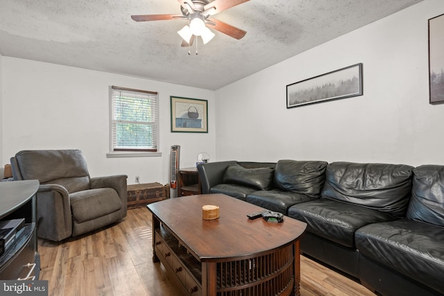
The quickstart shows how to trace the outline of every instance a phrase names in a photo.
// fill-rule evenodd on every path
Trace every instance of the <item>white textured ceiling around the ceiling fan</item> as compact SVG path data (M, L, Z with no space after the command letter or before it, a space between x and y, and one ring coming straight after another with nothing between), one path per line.
M183 20L136 22L130 15L180 14L176 0L1 0L0 53L219 89L422 0L251 0L215 17L247 31L180 47Z

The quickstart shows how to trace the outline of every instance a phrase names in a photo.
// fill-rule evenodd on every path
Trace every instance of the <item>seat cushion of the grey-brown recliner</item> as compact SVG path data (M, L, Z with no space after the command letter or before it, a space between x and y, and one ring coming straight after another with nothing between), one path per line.
M121 209L117 191L111 188L89 189L69 195L74 222L82 223Z

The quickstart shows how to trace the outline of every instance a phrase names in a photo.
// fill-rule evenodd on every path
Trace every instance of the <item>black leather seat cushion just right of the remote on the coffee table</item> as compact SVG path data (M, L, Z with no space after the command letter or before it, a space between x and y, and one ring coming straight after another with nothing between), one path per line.
M294 204L288 216L307 223L308 232L345 247L355 247L355 232L360 227L397 219L382 211L326 198Z

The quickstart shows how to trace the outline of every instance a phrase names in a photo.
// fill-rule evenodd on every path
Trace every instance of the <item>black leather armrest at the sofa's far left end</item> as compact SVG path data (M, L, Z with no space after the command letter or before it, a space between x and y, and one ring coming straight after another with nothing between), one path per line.
M209 162L207 164L198 164L197 169L202 185L202 193L210 193L210 189L217 184L223 183L223 174L231 164L237 164L237 161L227 162Z

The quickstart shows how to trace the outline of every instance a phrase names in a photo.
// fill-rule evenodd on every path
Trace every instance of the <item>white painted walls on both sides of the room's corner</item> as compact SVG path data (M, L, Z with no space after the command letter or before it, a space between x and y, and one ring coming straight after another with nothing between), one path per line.
M182 167L202 151L211 161L444 164L427 42L427 19L443 13L444 1L425 0L216 92L0 55L0 172L19 150L79 148L92 176L166 184L173 144ZM287 110L286 85L358 62L364 96ZM110 85L159 92L162 157L106 158ZM170 132L171 95L208 100L208 134Z

